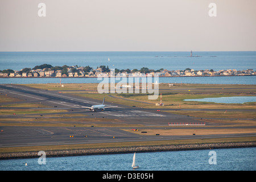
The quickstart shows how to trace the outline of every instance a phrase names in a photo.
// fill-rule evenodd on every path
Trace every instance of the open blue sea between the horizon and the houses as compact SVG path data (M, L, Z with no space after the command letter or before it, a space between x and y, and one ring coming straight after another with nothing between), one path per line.
M196 55L198 57L196 57ZM194 70L256 69L256 51L242 52L0 52L0 69L20 70L36 65L108 65L117 69ZM108 60L109 59L109 60Z

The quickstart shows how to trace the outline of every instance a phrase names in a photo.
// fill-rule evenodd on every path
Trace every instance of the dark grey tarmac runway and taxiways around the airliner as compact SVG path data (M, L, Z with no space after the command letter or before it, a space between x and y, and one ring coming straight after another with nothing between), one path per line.
M24 85L0 85L0 93L3 96L9 96L19 101L1 103L6 104L42 104L48 107L33 107L19 109L56 109L67 110L67 112L57 114L84 114L83 116L74 116L72 121L59 119L54 121L53 114L43 114L44 125L40 126L33 114L15 114L0 115L0 147L24 147L24 146L49 146L63 144L88 144L88 143L110 143L110 142L140 142L154 140L176 140L176 139L199 139L199 138L226 138L226 137L248 137L256 136L255 133L247 134L222 134L222 135L140 135L134 134L123 129L152 129L158 127L165 129L171 122L199 122L197 118L187 115L177 115L156 109L143 109L138 107L129 107L120 104L112 104L111 97L105 99L106 106L118 106L105 111L91 112L85 107L101 104L102 101L93 100L92 98L82 98L65 94L60 91L40 90L29 88ZM1 107L1 110L15 109L16 107ZM17 109L17 108L16 108ZM185 111L185 109L183 109ZM14 119L11 123L15 126L5 126L10 121L6 118ZM48 118L48 120L47 120ZM77 119L77 121L74 120ZM90 118L90 121L83 121L84 118ZM27 119L27 120L26 120ZM101 121L94 121L101 119ZM102 120L103 119L103 120ZM105 121L105 120L106 121ZM108 119L108 120L107 120ZM85 120L85 119L84 119ZM21 126L18 126L18 125ZM76 125L90 125L89 127L77 127ZM27 125L27 126L24 126ZM31 125L31 126L30 126ZM37 126L39 125L39 126ZM51 126L54 125L54 126ZM63 125L63 126L62 126ZM65 125L73 125L72 127ZM100 127L96 127L101 125ZM207 123L207 125L213 125ZM127 127L128 126L128 127ZM198 126L193 127L197 129ZM179 129L179 127L176 127ZM180 127L184 129L184 127ZM189 128L191 129L191 128Z

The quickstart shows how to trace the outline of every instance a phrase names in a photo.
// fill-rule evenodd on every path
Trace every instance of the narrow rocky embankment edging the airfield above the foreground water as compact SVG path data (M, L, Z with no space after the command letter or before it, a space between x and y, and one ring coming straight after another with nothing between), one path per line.
M256 147L253 142L226 142L226 143L199 143L199 144L174 144L161 146L133 146L133 147L108 147L108 148L86 148L74 150L45 151L46 157L64 157L81 155L105 155L105 154L127 154L133 152L161 152L161 151L185 151L185 150L214 150L218 148L244 148ZM39 151L29 152L6 152L0 154L0 159L25 159L39 158Z

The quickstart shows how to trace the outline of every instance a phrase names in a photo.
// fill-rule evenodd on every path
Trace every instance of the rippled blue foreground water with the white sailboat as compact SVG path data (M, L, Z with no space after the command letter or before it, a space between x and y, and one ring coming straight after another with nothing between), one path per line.
M255 171L256 147L0 160L1 171ZM42 161L42 160L40 160ZM25 166L27 163L27 166Z

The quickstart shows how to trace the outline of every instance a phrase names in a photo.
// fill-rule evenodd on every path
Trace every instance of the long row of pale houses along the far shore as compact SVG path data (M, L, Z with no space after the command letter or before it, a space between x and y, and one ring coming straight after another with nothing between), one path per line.
M237 71L236 69L220 70L220 71L210 71L209 69L195 71L193 69L188 69L185 71L168 71L164 69L162 72L150 72L150 73L127 73L119 72L113 75L113 72L102 72L101 68L91 70L88 73L83 72L78 69L78 72L71 72L68 69L67 74L61 73L61 70L55 71L43 71L35 70L30 73L20 73L20 71L15 71L14 73L0 73L0 77L108 77L108 76L117 76L117 77L127 77L127 76L246 76L246 75L256 75L256 72L253 69L247 69L243 71Z

